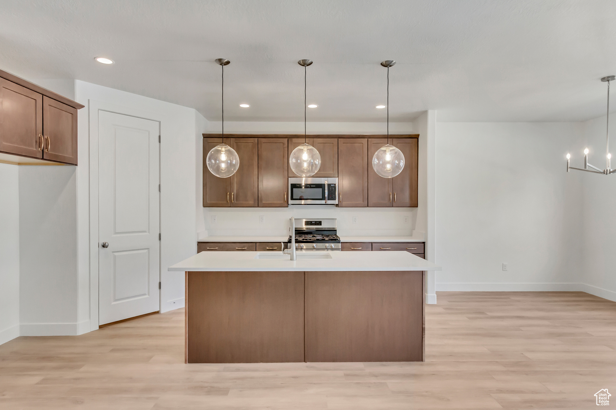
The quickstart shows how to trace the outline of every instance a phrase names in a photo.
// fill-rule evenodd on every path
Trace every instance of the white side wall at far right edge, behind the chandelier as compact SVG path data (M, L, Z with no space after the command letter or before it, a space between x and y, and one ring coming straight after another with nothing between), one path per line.
M610 115L612 127L616 116ZM570 144L571 165L582 168L583 149L588 147L588 162L606 168L606 116L585 122L585 133ZM613 130L614 128L612 128ZM616 138L612 132L611 152L616 152ZM616 159L612 160L616 168ZM583 187L583 253L582 290L616 301L616 175L598 175L581 171Z

